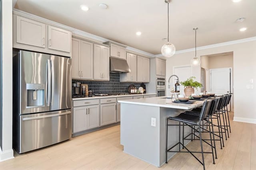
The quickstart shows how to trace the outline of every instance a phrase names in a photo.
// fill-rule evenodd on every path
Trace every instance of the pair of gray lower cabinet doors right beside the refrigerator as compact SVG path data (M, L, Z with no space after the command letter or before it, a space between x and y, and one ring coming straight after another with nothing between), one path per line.
M99 126L99 105L73 108L73 133Z

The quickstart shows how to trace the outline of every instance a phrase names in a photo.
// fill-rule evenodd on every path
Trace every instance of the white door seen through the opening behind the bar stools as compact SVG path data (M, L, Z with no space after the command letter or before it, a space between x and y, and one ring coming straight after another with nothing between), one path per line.
M210 69L210 92L220 96L230 93L230 91L231 68ZM230 109L230 106L228 108Z

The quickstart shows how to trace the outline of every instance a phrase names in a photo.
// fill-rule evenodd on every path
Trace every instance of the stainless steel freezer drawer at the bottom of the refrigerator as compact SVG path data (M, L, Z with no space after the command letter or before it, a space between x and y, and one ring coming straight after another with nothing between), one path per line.
M71 109L20 115L19 153L46 147L71 138Z

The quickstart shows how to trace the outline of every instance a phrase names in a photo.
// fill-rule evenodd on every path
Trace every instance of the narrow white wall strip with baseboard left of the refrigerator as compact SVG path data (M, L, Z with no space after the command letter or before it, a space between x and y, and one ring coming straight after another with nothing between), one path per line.
M13 158L12 150L12 1L2 0L3 122L0 161Z

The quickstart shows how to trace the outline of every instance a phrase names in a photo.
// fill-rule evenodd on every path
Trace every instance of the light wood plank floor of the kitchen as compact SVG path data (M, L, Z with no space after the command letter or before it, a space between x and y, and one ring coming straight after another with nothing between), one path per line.
M231 119L232 117L231 113ZM222 150L217 142L216 164L212 164L211 154L206 154L206 169L253 170L256 168L256 124L231 121L231 126L232 133L230 138L224 141L225 147ZM199 141L193 141L187 146L200 150ZM14 159L0 162L0 169L203 169L202 165L188 153L178 153L168 164L157 168L122 150L118 125L74 137L70 141L44 149L15 154ZM210 147L206 146L205 150L210 150Z

